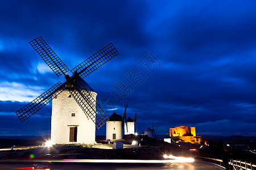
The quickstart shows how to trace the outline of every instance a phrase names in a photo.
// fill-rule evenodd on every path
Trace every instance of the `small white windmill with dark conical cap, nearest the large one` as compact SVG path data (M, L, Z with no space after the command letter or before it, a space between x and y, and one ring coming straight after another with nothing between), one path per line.
M122 133L122 116L113 113L106 121L106 139L120 140L123 139Z

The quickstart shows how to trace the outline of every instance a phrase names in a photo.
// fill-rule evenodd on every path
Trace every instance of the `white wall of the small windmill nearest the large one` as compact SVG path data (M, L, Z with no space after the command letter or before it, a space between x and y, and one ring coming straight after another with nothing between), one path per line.
M113 134L115 134L115 140L123 139L122 121L106 122L106 139L113 140Z

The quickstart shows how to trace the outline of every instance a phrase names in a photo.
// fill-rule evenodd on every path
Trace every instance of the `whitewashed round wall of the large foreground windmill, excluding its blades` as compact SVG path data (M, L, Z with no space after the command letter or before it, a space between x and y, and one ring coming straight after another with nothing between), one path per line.
M51 142L70 143L69 129L77 126L77 143L95 143L96 125L69 95L70 92L64 90L52 100ZM96 92L91 95L96 101Z

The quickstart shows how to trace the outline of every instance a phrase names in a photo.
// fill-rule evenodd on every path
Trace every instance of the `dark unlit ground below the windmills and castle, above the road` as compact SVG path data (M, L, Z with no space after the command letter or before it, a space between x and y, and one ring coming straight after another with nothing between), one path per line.
M49 137L42 137L37 139L0 139L0 148L10 148L12 146L38 146L30 150L13 150L0 151L0 159L28 159L33 154L34 158L45 159L162 159L164 154L175 156L205 156L209 158L222 159L221 153L223 146L230 143L230 153L233 159L253 162L256 164L256 155L245 151L242 148L235 147L237 141L247 143L253 146L255 137L204 137L207 139L206 145L196 145L192 143L167 143L154 138L148 138L144 135L139 135L137 140L141 143L138 148L124 148L121 150L107 150L100 148L88 148L81 145L62 145L51 149L42 147L42 143ZM125 144L130 144L135 137L124 137ZM98 141L106 143L106 141ZM201 147L201 148L200 148ZM15 148L15 147L14 147ZM189 151L189 149L196 148L197 151Z

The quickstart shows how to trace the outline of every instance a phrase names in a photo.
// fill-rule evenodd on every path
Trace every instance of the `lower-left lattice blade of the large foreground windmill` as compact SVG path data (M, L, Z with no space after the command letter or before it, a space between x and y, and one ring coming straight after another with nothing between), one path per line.
M64 84L61 86L61 82L57 82L42 95L36 97L36 99L25 105L23 108L19 109L19 111L16 112L19 120L23 122L38 112L52 100L52 96L55 97L59 95L62 92L61 88L63 87Z

